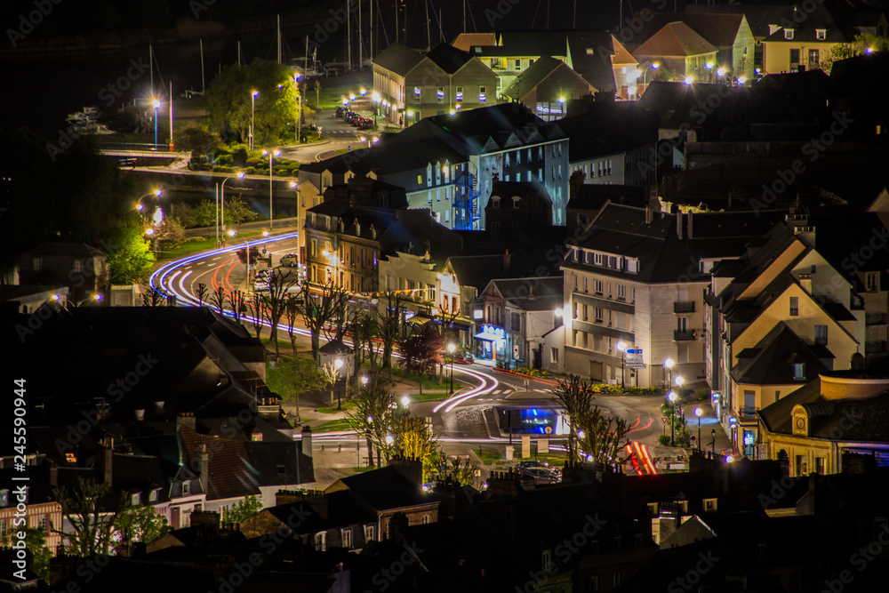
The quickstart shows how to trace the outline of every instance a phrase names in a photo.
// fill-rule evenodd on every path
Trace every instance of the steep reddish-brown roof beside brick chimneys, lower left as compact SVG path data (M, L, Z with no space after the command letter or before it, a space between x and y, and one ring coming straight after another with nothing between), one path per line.
M210 454L210 476L206 480L208 501L260 494L259 482L247 460L243 441L199 435L189 427L182 427L180 437L189 467L196 467L196 462L191 460L196 455L197 445L207 445Z

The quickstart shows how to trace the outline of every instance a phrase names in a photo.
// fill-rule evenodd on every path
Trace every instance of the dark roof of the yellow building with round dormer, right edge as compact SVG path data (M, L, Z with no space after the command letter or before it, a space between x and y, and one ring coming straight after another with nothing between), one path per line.
M872 378L860 372L830 373L850 379ZM791 413L795 405L808 405L811 412L809 434L814 438L844 441L889 443L889 391L868 399L825 399L821 379L816 379L781 397L757 414L765 428L773 433L793 434Z

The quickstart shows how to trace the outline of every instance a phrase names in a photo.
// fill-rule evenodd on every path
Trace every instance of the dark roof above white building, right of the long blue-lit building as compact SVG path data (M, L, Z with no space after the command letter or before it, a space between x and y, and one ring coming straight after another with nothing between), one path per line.
M597 101L560 124L569 133L571 163L642 148L658 140L658 117L638 101Z

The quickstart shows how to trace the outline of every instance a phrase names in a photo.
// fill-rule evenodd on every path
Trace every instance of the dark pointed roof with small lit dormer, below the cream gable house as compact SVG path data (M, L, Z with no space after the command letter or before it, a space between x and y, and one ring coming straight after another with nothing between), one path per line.
M732 378L749 385L792 385L793 365L805 364L805 381L813 381L829 368L821 360L823 347L815 348L802 341L782 321L775 325L754 348L738 353L738 364L732 369ZM833 355L829 356L833 358ZM799 380L802 382L802 380Z

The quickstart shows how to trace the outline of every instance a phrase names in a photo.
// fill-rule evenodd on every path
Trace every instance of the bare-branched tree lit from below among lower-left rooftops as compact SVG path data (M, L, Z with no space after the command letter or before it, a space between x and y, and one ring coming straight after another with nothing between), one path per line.
M130 497L121 493L115 504L110 493L110 482L99 483L83 477L77 478L73 491L67 486L52 489L52 498L61 505L62 515L71 528L65 532L61 525L51 523L52 533L61 536L66 553L91 557L111 552L117 520L129 509Z

